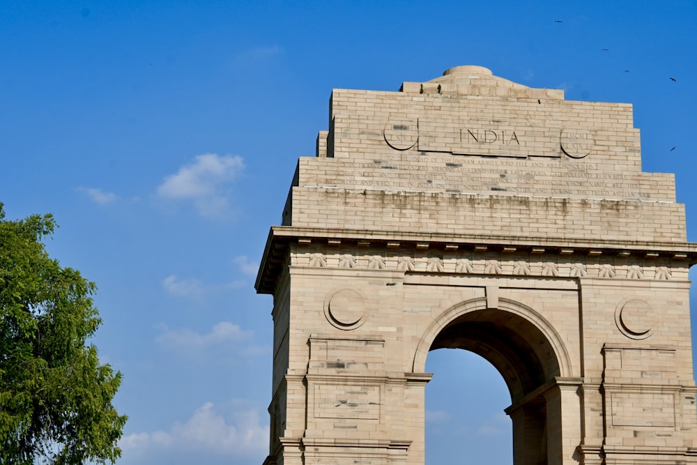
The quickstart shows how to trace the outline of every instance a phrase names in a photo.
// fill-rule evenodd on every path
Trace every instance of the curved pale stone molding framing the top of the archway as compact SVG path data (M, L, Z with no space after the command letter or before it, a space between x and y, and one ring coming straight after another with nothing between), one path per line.
M412 365L413 372L423 373L425 371L426 358L431 346L434 343L434 340L436 340L436 337L438 337L438 335L445 328L447 328L447 326L449 326L453 321L464 317L466 314L482 310L500 310L502 312L509 312L510 314L513 314L514 316L519 317L533 325L539 331L539 333L542 334L546 340L546 343L549 344L549 347L554 353L554 358L558 364L558 374L556 376L560 376L562 378L573 376L569 352L567 351L559 333L554 329L547 319L542 317L541 314L527 305L507 298L499 298L498 305L495 309L492 309L487 305L486 297L473 298L453 305L434 319L434 321L424 331L424 334L422 335L416 348Z

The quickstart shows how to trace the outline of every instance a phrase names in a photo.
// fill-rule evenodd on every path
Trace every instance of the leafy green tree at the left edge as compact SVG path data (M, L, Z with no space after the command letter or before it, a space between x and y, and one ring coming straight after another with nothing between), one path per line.
M0 203L0 463L115 462L121 373L89 339L95 284L51 259L52 215L5 220Z

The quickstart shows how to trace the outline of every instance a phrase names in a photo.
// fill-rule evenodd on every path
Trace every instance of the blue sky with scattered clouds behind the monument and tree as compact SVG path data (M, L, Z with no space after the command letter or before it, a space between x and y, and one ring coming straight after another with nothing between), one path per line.
M0 201L53 213L49 252L98 284L95 344L130 417L119 464L266 457L272 303L254 277L332 88L479 65L629 102L643 169L676 173L697 241L695 1L105 3L0 3ZM510 464L500 375L441 352L429 463Z

